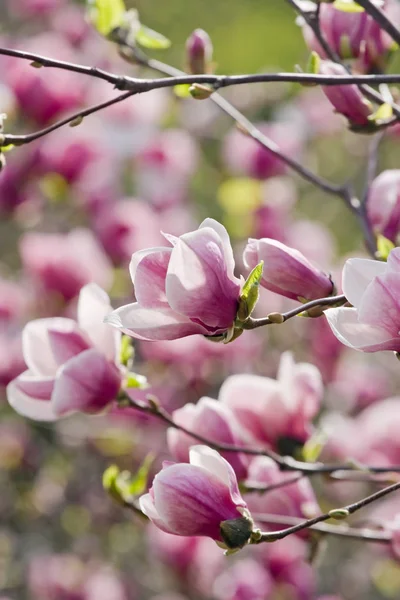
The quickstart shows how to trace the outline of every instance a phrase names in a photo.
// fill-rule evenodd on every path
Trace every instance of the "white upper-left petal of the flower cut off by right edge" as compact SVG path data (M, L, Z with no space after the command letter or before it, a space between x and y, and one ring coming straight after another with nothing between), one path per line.
M343 268L342 287L347 300L356 308L361 304L367 286L387 270L386 263L367 258L350 258Z

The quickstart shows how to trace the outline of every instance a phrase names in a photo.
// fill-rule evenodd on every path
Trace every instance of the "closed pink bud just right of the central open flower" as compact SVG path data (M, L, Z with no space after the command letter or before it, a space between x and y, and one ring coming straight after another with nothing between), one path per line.
M277 240L249 239L243 262L253 269L264 261L260 284L271 292L292 300L315 300L333 292L331 279L315 268L298 250Z

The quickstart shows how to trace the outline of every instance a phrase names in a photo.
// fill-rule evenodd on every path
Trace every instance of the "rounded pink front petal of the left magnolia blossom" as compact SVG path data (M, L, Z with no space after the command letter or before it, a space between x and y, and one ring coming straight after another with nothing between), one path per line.
M57 373L52 403L58 416L97 412L116 399L121 385L117 367L91 348L69 360Z

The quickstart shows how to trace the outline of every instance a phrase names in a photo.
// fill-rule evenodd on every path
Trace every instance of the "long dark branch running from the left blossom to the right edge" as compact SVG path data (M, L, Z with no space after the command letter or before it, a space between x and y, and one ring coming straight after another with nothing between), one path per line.
M369 473L400 473L400 465L394 465L391 467L388 466L369 466L369 465L361 465L361 464L323 464L320 462L315 463L307 463L299 460L295 460L291 456L281 456L277 452L274 452L271 449L267 448L248 448L242 446L235 446L233 444L224 444L222 442L215 442L206 438L203 435L195 433L190 429L187 429L183 425L179 425L173 419L173 417L164 410L158 403L157 399L149 395L147 398L147 402L143 402L141 400L135 400L131 398L127 392L122 391L120 393L120 397L118 399L119 406L121 408L131 407L136 410L139 410L142 413L151 415L156 417L168 427L173 427L182 433L185 433L189 437L192 437L194 440L217 450L218 452L238 452L242 454L247 454L249 456L268 456L272 458L272 460L280 467L282 471L299 471L304 475L318 475L322 473L331 474L336 471L346 471L346 472L356 472L358 473L360 470ZM260 491L260 490L258 490Z

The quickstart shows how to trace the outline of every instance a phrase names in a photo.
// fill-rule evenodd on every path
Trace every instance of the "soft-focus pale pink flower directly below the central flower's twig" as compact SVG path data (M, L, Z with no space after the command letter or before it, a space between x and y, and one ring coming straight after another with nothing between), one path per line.
M305 442L323 395L321 374L307 363L282 354L278 378L231 375L219 400L228 406L254 441L278 448L283 438ZM251 402L249 401L251 398Z

